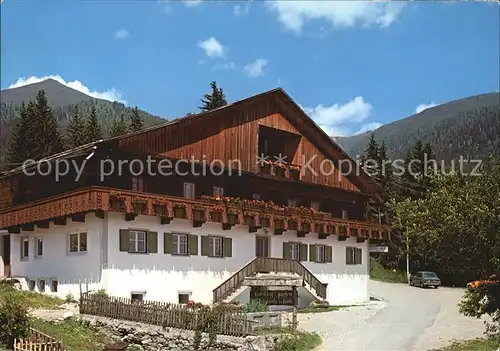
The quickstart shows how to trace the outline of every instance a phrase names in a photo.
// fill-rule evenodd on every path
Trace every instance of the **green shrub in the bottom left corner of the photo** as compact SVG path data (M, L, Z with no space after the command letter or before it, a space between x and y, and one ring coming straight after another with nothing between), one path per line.
M14 294L5 294L0 302L0 344L13 348L14 339L26 338L29 333L28 308Z

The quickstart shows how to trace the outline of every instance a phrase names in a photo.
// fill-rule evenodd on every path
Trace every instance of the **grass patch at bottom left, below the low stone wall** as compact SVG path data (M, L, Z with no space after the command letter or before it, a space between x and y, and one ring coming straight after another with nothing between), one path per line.
M96 327L76 319L54 323L33 318L31 327L62 340L64 349L68 351L102 351L110 341Z

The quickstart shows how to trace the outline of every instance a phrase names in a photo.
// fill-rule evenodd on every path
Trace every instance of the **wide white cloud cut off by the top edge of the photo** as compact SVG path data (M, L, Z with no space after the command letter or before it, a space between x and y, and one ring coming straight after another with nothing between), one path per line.
M270 1L268 7L277 13L278 20L296 33L308 20L325 20L333 27L356 25L388 27L397 20L403 2L372 1Z

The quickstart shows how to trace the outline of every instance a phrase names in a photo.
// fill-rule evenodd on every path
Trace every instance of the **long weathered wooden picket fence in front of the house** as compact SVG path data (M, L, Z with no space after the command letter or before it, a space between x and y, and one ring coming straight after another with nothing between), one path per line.
M213 320L214 314L207 308L158 301L132 302L92 293L81 295L80 313L188 330L196 330L211 319L217 334L233 336L244 336L252 330L252 322L244 312L221 311Z

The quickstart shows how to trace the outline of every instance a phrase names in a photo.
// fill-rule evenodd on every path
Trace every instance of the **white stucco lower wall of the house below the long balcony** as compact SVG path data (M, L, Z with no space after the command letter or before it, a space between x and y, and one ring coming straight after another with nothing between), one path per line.
M145 229L158 232L158 253L131 254L119 251L120 229ZM83 254L68 254L68 235L75 231L86 231L88 249ZM163 233L180 232L198 235L198 255L172 256L163 253ZM202 235L231 237L232 257L212 258L201 256ZM134 221L125 221L122 213L108 213L104 219L88 214L85 223L54 226L50 229L36 229L13 235L11 240L12 276L28 279L45 279L46 292L50 292L50 280L58 280L60 297L71 292L79 294L80 284L88 288L105 288L110 295L130 297L132 292L144 292L148 300L178 302L179 293L190 293L196 302L210 303L212 290L229 278L232 273L255 257L255 236L247 226L235 226L223 231L220 223L206 223L193 228L192 222L174 219L170 224L161 225L157 217L138 216ZM22 237L30 238L30 257L20 260ZM34 257L36 237L44 239L44 255ZM368 244L356 243L355 239L338 241L337 236L320 240L311 233L305 238L297 238L296 232L270 236L271 257L283 257L283 242L301 241L306 244L323 244L333 247L333 263L303 262L323 283L328 283L327 300L331 304L354 304L367 301L368 295ZM345 264L345 247L363 249L362 265ZM246 296L246 297L245 297ZM248 292L238 299L248 299ZM311 296L302 291L301 305L307 305Z

